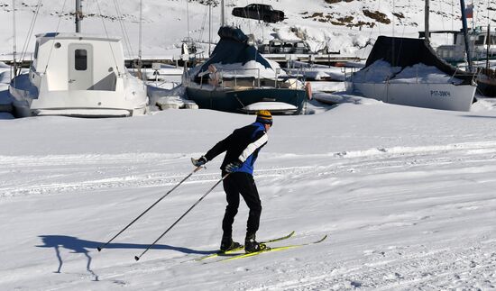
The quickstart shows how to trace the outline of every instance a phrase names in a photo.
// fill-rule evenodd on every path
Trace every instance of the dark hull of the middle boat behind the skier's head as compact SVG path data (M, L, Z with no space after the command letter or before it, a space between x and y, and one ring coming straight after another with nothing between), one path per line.
M245 112L247 105L260 102L280 102L294 105L299 114L307 97L305 90L287 88L252 88L246 90L208 90L187 86L186 93L199 108L230 113Z

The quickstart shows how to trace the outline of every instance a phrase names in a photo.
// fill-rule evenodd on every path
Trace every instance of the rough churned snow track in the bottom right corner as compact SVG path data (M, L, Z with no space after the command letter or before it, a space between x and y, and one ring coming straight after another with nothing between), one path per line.
M372 259L372 262L359 259L334 264L340 267L330 269L326 275L318 271L318 268L328 268L323 263L295 272L283 266L290 270L286 277L297 279L252 290L343 290L359 287L374 290L466 290L467 286L478 290L493 289L496 287L496 275L492 270L496 263L495 247L496 241L482 241L456 249L430 250L422 245L399 250L392 248L380 254L370 254L380 257ZM482 283L471 286L474 278Z

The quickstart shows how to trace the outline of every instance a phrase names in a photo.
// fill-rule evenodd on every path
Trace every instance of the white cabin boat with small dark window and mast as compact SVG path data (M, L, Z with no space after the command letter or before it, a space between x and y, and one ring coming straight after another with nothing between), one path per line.
M76 0L80 9L80 0ZM146 86L124 66L120 39L80 32L36 35L32 66L11 81L14 114L85 117L144 114Z

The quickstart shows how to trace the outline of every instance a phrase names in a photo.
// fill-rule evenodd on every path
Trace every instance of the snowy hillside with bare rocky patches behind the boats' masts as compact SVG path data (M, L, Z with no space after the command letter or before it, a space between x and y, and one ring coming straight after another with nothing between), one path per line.
M179 55L179 44L186 37L203 43L207 50L208 5L212 4L212 42L220 25L220 0L143 0L142 52L144 56L166 57ZM256 40L266 42L272 38L304 39L313 50L328 47L346 55L366 55L380 34L418 37L424 29L424 1L422 0L261 0L254 1L283 10L286 19L281 23L262 23L231 15L236 6L253 2L225 0L227 23L253 33ZM17 45L26 39L28 52L32 51L33 36L28 32L33 16L39 11L33 34L41 32L72 32L74 4L69 1L23 0L17 2ZM126 53L137 54L139 43L139 1L83 1L86 15L84 32L108 33L122 36L127 41ZM474 0L473 25L496 23L496 4ZM12 2L0 0L0 59L6 59L13 50ZM461 27L459 2L454 0L431 1L430 26L433 30L458 30ZM447 40L435 40L438 44ZM19 49L18 49L19 50Z

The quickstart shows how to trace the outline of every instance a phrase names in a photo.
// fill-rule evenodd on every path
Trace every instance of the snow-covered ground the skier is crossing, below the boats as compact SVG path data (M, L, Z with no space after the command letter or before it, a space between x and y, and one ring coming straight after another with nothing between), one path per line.
M471 113L361 99L276 116L257 161L258 238L326 241L230 262L218 248L217 157L98 252L253 116L170 110L126 119L0 120L2 290L342 290L496 288L496 110ZM328 108L327 108L328 109ZM241 205L234 238L242 241Z

